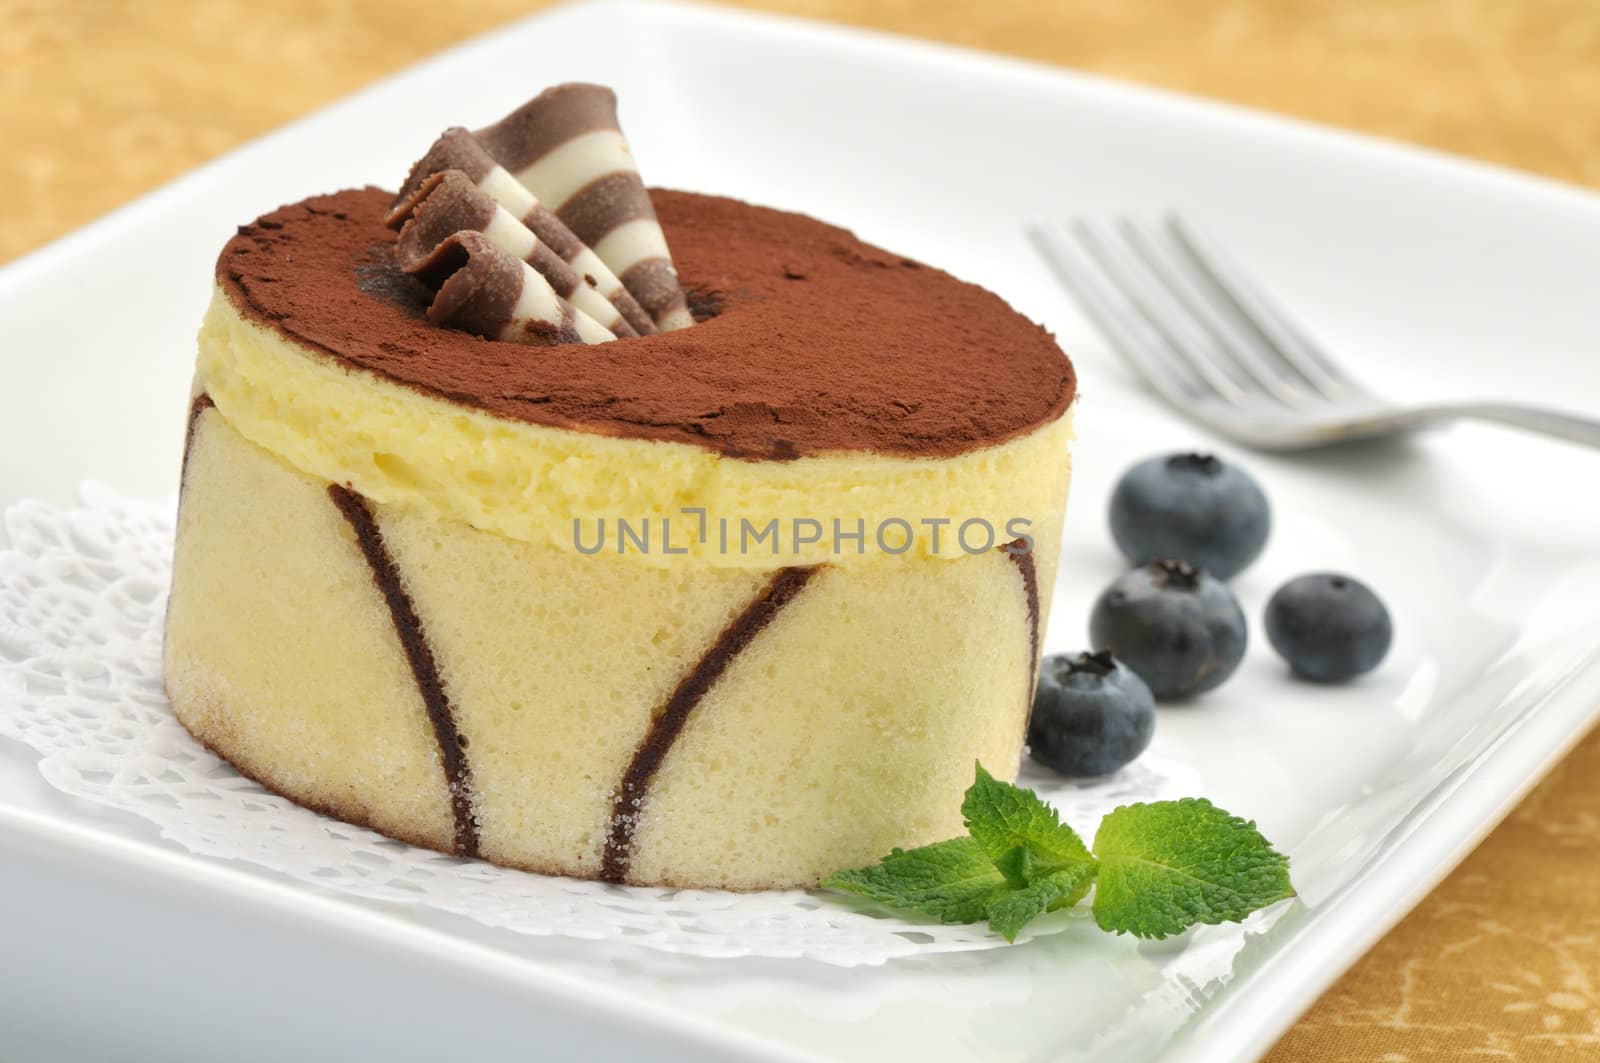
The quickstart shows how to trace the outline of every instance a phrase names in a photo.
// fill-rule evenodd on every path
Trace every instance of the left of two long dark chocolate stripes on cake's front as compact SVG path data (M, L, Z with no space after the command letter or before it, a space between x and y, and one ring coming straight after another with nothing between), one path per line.
M400 583L400 568L395 565L384 536L378 530L366 499L339 483L328 485L328 496L339 507L344 519L355 532L355 541L366 557L366 567L373 572L373 583L389 605L389 618L394 621L395 634L400 637L400 648L411 664L411 676L416 679L418 693L422 695L422 706L427 719L434 725L434 738L438 741L438 757L445 765L445 784L450 789L450 812L456 823L454 850L459 856L478 855L478 823L472 816L472 768L467 764L464 749L466 740L456 730L456 716L450 708L450 696L445 684L438 677L438 664L434 661L434 650L427 644L422 621L416 615L416 605Z

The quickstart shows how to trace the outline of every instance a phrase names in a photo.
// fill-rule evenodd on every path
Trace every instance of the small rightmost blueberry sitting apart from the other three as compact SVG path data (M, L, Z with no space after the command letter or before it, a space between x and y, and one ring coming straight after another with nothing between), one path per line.
M1378 668L1394 642L1389 610L1360 580L1314 572L1267 602L1267 640L1296 676L1336 684Z

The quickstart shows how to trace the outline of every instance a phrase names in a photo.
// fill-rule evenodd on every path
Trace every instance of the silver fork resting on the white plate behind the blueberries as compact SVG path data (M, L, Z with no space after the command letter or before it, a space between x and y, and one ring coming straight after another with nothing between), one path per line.
M1259 450L1310 450L1459 419L1600 447L1600 421L1514 402L1379 399L1181 221L1074 223L1027 235L1144 381L1184 416Z

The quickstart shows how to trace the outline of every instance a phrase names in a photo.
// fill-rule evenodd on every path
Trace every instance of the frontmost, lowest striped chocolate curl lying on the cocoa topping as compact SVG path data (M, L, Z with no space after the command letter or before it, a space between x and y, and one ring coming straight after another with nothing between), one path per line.
M616 339L595 319L555 295L550 282L528 263L482 232L453 232L408 272L443 279L427 307L427 319L437 325L534 346Z

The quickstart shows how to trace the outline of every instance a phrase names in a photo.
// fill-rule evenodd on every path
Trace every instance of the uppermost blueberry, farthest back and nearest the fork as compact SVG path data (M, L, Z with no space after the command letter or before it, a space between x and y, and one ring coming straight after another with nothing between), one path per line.
M1261 487L1211 455L1162 455L1122 474L1110 496L1110 535L1134 565L1186 560L1232 580L1272 530Z

